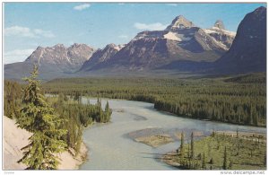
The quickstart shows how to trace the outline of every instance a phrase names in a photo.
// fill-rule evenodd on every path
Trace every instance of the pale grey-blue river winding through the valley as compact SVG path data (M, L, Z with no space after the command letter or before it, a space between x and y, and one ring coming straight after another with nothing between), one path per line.
M82 102L89 101L82 98ZM192 130L209 135L213 130L230 130L239 132L266 133L263 127L245 127L220 122L203 121L191 118L179 118L153 108L152 103L140 101L102 100L113 110L111 122L96 124L84 130L83 140L89 149L89 160L84 162L80 170L101 171L161 171L174 170L173 167L160 161L162 153L176 150L179 141L152 148L137 143L128 133L149 128L152 132L173 133ZM90 100L95 103L96 100Z

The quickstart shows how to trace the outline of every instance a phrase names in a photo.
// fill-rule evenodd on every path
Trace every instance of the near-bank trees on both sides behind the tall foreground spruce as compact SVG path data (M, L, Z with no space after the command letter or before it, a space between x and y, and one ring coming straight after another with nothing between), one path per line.
M4 116L19 120L25 104L22 102L22 89L25 84L4 81ZM44 94L43 94L44 95ZM96 104L83 104L80 93L67 97L60 93L56 97L47 97L48 104L55 110L56 116L63 119L59 128L67 130L62 136L69 148L78 153L82 143L83 127L88 127L92 122L106 123L110 120L112 110L107 102L105 109L101 107L101 100Z

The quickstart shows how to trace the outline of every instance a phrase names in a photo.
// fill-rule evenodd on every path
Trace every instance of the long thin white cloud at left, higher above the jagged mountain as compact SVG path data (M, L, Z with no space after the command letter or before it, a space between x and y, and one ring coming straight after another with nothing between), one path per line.
M28 37L28 38L54 38L55 35L52 31L43 31L40 29L33 29L22 26L12 26L4 29L5 36L18 36L18 37Z

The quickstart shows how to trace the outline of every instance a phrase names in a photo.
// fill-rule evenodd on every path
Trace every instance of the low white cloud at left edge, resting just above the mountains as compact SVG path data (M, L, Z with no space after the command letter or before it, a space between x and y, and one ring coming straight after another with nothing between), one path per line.
M15 49L12 51L4 52L4 64L24 61L34 49Z

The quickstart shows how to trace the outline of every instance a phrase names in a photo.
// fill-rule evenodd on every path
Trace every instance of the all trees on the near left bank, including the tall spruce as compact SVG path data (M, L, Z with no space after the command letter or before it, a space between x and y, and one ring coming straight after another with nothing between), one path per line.
M107 102L105 109L98 98L96 104L82 103L81 96L67 97L44 94L34 67L25 84L4 81L4 116L13 118L18 127L32 133L30 144L22 148L23 156L18 162L27 170L56 170L58 153L66 150L80 152L82 129L92 122L106 123L112 110Z

